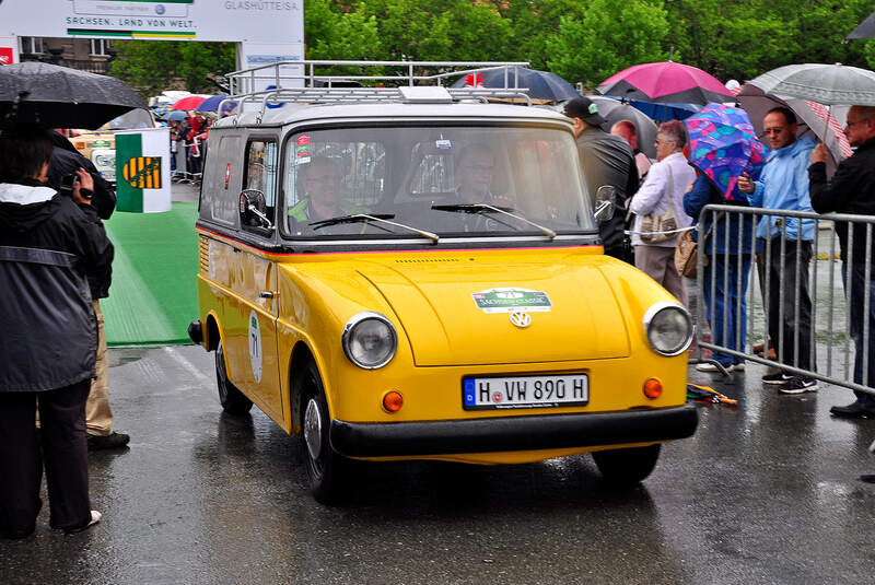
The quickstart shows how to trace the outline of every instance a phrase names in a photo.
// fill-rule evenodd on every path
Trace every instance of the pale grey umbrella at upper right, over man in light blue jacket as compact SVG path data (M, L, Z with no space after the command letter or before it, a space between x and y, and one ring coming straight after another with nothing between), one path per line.
M841 63L788 65L748 83L766 93L824 105L875 106L875 72Z

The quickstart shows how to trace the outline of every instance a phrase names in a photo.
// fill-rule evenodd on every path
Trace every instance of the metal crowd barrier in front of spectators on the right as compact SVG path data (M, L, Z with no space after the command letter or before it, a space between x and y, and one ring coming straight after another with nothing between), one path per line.
M722 215L720 215L722 213ZM736 230L737 230L737 238L736 238L736 247L735 249L725 249L723 253L714 254L705 253L707 247L702 245L702 236L703 231L699 230L699 254L698 254L698 273L697 273L697 282L698 282L698 303L697 303L697 332L696 332L696 350L695 356L690 360L692 363L699 362L709 362L716 365L724 374L727 374L727 371L714 359L707 359L703 358L703 350L711 350L720 351L727 355L733 356L734 359L740 359L747 362L755 362L760 363L762 365L772 366L782 370L783 372L791 374L791 375L802 375L806 377L813 377L820 379L822 382L827 382L829 384L835 384L836 386L845 387L849 389L860 390L867 394L875 395L875 379L868 379L868 361L870 361L870 353L871 351L863 351L862 355L862 384L853 382L853 366L854 366L854 347L851 340L851 309L850 305L847 302L848 299L851 297L851 292L853 290L852 286L852 278L851 278L851 264L855 262L853 258L853 238L856 235L860 237L860 231L865 232L865 258L864 258L864 277L863 283L868 284L870 291L873 288L872 283L872 242L873 242L873 224L875 224L875 217L872 215L851 215L851 214L838 214L838 213L830 213L830 214L817 214L812 212L801 212L801 211L783 211L783 210L774 210L774 209L761 209L761 208L747 208L747 207L738 207L738 206L724 206L724 204L709 204L707 206L699 217L699 224L703 225L703 220L709 218L713 223L714 220L718 222L724 222L725 233L730 234L730 226L732 222L732 218L736 217ZM744 219L745 217L752 215L752 230L749 230L747 236L744 235ZM747 291L746 291L746 305L747 312L746 315L742 314L742 304L737 303L736 306L728 307L723 312L723 324L722 324L722 339L714 339L711 336L711 339L708 339L704 335L704 327L703 324L707 323L707 306L704 303L704 280L705 280L705 272L711 271L710 273L710 296L712 299L712 304L714 304L718 299L721 299L725 302L728 299L728 293L725 290L722 292L718 290L718 274L716 274L716 267L718 267L718 259L722 259L723 265L723 279L722 282L725 284L730 279L730 262L735 261L736 266L738 266L737 258L738 255L742 253L744 239L748 238L750 244L750 249L755 250L757 246L757 225L762 218L778 218L779 225L780 225L780 235L772 236L772 239L761 241L762 250L756 255L751 255L751 268L747 278L749 279L747 283ZM769 339L769 317L772 315L772 312L778 312L778 319L779 323L783 323L784 318L786 317L785 314L785 303L779 303L780 306L771 306L769 301L769 296L771 291L772 283L770 282L768 276L768 267L770 266L770 261L773 255L786 253L789 246L793 246L796 244L796 236L791 235L788 236L788 219L795 218L798 220L814 220L815 222L815 230L814 230L814 239L812 242L813 246L813 256L809 266L803 267L802 266L802 257L803 251L802 247L796 245L795 246L795 261L794 268L800 277L796 279L796 286L793 286L793 290L785 290L784 289L784 281L785 281L785 265L782 262L780 266L779 274L778 274L778 285L779 285L779 297L783 297L786 294L791 294L793 304L793 323L796 324L796 327L793 328L792 339L788 340L784 339L785 331L783 328L779 331L778 339ZM748 220L750 221L750 220ZM847 258L845 262L848 265L848 279L847 279L847 286L843 286L842 281L842 260L839 260L839 242L838 236L836 233L836 225L837 224L847 224L848 225L848 250L845 251ZM859 226L859 227L858 227ZM802 229L797 230L797 233L801 232ZM855 233L856 232L856 233ZM712 231L710 238L712 242L714 241L714 236L716 233L716 227ZM801 237L801 236L800 236ZM714 246L716 247L716 246ZM725 247L725 246L724 246ZM715 258L718 256L723 256L723 258ZM734 257L733 257L734 256ZM756 258L756 259L754 259ZM793 258L790 259L793 261ZM707 264L707 266L705 266ZM765 266L763 266L765 265ZM761 270L758 271L758 268L765 268L766 278L761 278L760 273ZM740 291L743 289L742 282L742 271L739 270L736 276L736 291ZM798 327L801 314L805 311L805 307L801 303L803 288L807 283L807 290L810 294L812 301L812 314L810 314L810 331L807 334L808 339L803 339L802 336L805 334ZM858 286L859 289L859 286ZM862 301L863 303L863 311L862 315L867 316L873 311L873 307L870 306L870 299L872 293L863 293L861 294L859 291L854 292L854 294L859 295L858 301ZM862 296L862 299L861 299ZM734 312L735 323L742 323L742 319L746 320L747 325L747 332L745 339L742 339L742 328L740 326L736 326L734 328L734 336L732 339L727 339L727 330L728 330L728 319L730 313L728 309ZM870 346L870 337L875 335L875 331L870 330L870 318L863 318L862 324L862 348L868 348ZM713 329L713 327L711 328ZM809 349L809 366L802 367L804 365L801 362L800 355L800 346L805 344L804 342L807 341ZM763 352L761 355L758 355L752 351L752 347L756 343L763 343ZM792 356L782 356L781 348L784 347L785 343L792 342L793 351ZM802 342L802 343L801 343ZM777 355L774 359L769 358L769 346L773 344ZM875 377L875 376L873 376Z

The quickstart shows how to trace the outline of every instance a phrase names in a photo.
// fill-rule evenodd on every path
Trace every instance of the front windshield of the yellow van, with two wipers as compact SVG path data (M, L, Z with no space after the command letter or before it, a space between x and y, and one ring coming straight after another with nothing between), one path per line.
M307 238L595 230L572 134L548 126L371 127L292 134L281 225ZM380 215L387 221L349 215ZM401 224L393 225L394 224Z

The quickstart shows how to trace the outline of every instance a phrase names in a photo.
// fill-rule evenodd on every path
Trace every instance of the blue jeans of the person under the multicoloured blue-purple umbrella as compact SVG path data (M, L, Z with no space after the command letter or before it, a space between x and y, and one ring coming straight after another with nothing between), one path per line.
M747 339L746 295L750 274L750 255L716 253L710 255L709 259L710 265L704 269L702 296L708 309L708 323L711 325L711 341L715 346L744 352ZM739 276L740 289L738 288ZM712 356L724 366L743 361L722 351L714 351Z

